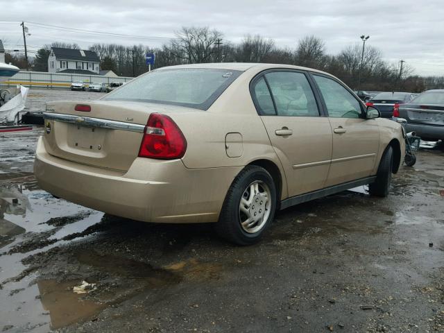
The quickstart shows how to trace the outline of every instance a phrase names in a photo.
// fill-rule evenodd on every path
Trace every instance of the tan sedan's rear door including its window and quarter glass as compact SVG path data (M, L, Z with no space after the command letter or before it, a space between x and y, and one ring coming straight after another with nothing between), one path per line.
M332 156L332 128L304 72L268 71L253 99L287 176L289 196L321 189Z

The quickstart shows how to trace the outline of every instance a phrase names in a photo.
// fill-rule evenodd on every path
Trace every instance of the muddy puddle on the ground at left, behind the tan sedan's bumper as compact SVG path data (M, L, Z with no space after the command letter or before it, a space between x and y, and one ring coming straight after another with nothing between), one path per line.
M51 281L35 284L37 271L22 264L22 259L67 244L64 237L99 223L103 213L54 198L39 189L33 177L19 175L9 180L0 186L0 330L48 332L50 327L76 321L74 314L83 316L99 309L95 303L82 301L79 311L69 314L76 296L65 290L65 282L61 288ZM62 298L66 305L60 305ZM49 305L53 299L59 300L52 305L56 312Z

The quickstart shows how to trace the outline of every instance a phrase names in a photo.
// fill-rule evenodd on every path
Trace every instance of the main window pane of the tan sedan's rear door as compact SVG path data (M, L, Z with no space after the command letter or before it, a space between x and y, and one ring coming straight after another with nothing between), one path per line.
M278 116L319 117L318 105L305 74L272 71L265 74Z

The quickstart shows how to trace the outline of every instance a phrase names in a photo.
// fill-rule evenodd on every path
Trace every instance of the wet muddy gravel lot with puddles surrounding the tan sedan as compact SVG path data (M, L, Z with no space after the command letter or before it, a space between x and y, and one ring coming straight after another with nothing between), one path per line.
M102 94L31 90L44 101ZM4 332L444 332L444 145L388 198L361 187L280 212L260 244L108 216L42 191L42 130L1 135ZM94 284L74 293L83 281Z

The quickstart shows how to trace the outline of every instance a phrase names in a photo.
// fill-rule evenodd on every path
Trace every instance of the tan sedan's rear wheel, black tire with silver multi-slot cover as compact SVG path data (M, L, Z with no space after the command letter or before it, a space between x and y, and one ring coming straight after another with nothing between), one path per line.
M216 232L237 245L251 245L262 238L273 221L276 187L262 167L245 167L232 182L223 203Z

